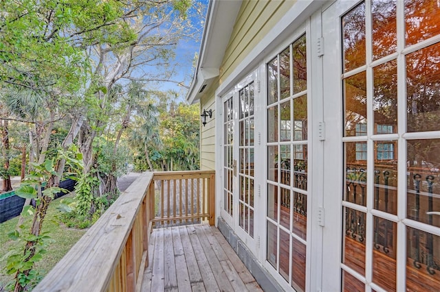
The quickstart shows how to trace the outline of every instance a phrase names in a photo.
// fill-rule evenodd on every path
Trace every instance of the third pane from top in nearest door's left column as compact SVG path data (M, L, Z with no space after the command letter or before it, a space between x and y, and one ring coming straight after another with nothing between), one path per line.
M344 145L344 200L366 206L366 142L347 142Z

